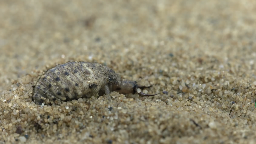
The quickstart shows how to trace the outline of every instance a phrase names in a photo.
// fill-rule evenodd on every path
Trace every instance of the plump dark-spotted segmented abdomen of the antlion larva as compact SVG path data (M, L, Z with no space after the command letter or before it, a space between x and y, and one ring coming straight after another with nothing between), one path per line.
M51 68L37 82L34 102L42 104L45 98L69 101L96 94L101 86L93 69L88 62L67 62Z

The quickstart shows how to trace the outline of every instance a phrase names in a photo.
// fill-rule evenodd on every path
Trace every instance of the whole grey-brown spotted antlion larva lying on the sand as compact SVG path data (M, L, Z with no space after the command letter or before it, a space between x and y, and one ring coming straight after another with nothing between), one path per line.
M69 101L102 96L112 91L122 94L136 93L138 88L143 86L138 86L134 81L123 80L114 70L102 64L67 62L58 64L39 78L32 98L36 104L42 104L46 102L46 98L51 101ZM143 92L138 94L156 95Z

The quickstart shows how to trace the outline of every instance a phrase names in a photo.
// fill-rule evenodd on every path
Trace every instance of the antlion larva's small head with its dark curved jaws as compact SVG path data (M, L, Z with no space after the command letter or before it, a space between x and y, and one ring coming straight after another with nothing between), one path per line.
M128 81L128 80L123 80L120 84L116 85L114 84L112 86L113 91L122 93L122 94L130 94L133 93L135 94L138 90L138 88L146 88L145 86L138 86L138 84L134 81ZM138 93L141 96L155 96L157 94L145 94L143 92Z

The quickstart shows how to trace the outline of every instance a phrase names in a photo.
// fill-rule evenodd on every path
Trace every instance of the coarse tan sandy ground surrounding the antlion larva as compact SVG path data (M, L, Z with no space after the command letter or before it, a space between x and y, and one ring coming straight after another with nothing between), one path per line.
M254 144L255 28L255 0L1 0L0 144ZM159 94L32 102L79 60Z

